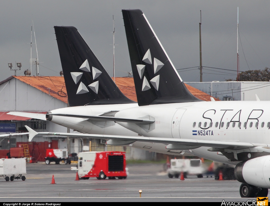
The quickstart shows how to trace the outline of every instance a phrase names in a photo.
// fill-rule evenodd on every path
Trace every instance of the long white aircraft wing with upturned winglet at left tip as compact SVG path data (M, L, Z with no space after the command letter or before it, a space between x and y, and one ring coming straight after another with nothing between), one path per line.
M215 148L226 148L231 150L239 150L254 147L269 147L267 144L255 144L248 142L234 142L234 141L214 141L214 140L198 140L198 139L176 139L176 138L160 138L160 137L143 137L143 136L120 136L120 135L100 135L100 134L77 134L77 133L62 133L62 132L36 132L25 126L29 131L29 141L38 134L60 137L77 137L77 138L94 138L94 139L109 139L109 143L116 145L128 145L136 141L140 142L155 142L167 144L167 149L195 149L201 146ZM126 143L126 144L124 144ZM211 150L213 151L213 150Z

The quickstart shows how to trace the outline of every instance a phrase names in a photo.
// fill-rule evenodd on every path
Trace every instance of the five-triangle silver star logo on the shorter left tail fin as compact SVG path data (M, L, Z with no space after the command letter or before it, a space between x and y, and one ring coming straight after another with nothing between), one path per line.
M83 62L79 69L82 71L91 72L87 59L85 60L85 62ZM101 75L101 73L102 72L99 71L97 68L92 67L93 80L96 79L99 75ZM83 72L70 72L70 74L75 84L77 84L82 78ZM97 94L99 89L99 81L93 82L92 84L88 85L88 87ZM79 95L87 92L89 92L87 86L85 86L84 83L80 82L76 94Z

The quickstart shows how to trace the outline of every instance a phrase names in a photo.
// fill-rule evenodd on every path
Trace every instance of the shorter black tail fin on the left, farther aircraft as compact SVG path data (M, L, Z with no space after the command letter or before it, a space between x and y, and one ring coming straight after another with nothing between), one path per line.
M70 106L135 103L119 90L72 26L55 26Z

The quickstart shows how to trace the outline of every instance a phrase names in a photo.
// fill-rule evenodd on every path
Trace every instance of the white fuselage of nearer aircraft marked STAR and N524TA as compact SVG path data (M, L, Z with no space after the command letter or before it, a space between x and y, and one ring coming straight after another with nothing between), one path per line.
M149 130L136 124L118 122L123 127L146 137L269 143L270 111L268 101L148 105L121 110L115 116L123 118L151 116L154 118L155 123L149 127ZM137 144L146 145L143 142ZM151 144L153 145L153 143ZM144 146L144 148L151 144ZM207 149L207 147L201 147L185 152L206 159L230 163L225 156L207 151Z

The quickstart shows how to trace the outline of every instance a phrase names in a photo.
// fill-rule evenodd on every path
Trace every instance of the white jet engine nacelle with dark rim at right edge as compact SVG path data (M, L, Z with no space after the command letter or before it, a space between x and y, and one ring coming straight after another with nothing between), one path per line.
M234 175L239 182L270 188L270 155L238 163Z

